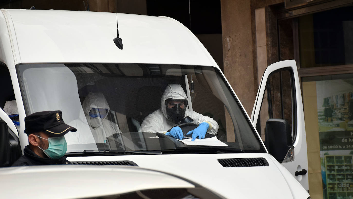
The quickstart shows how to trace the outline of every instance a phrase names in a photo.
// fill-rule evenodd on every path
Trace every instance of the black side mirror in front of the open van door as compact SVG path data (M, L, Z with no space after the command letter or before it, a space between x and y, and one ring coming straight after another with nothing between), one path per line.
M265 146L271 156L280 163L282 163L283 159L288 156L288 153L292 153L294 156L292 132L285 119L267 120L265 129Z

